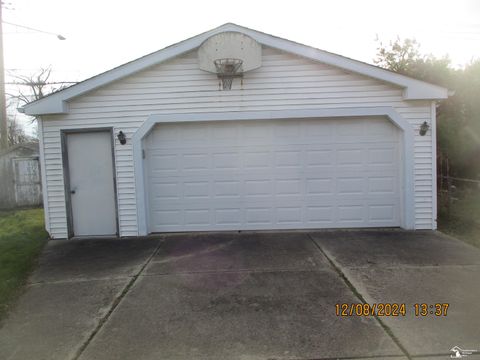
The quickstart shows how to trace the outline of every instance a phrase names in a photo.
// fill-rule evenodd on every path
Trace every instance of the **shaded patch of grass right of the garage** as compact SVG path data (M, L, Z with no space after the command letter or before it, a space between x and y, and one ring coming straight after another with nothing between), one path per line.
M438 228L480 248L480 191L460 191L455 198L450 209L439 199Z

